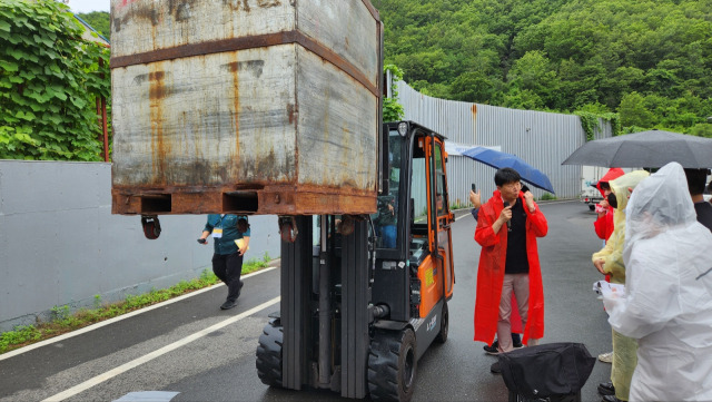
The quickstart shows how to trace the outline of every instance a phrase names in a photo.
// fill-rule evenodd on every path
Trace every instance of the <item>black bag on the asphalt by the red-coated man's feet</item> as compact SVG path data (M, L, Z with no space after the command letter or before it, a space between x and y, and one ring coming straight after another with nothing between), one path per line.
M510 392L526 399L576 394L589 380L595 357L582 343L547 343L500 353Z

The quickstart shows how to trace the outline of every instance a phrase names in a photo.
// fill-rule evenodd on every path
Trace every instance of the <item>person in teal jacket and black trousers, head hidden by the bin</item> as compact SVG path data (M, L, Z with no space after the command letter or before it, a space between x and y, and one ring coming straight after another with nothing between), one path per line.
M215 253L212 272L227 285L227 300L220 308L229 310L237 305L243 290L243 256L249 246L249 224L247 216L233 214L210 214L198 243L208 244L212 235Z

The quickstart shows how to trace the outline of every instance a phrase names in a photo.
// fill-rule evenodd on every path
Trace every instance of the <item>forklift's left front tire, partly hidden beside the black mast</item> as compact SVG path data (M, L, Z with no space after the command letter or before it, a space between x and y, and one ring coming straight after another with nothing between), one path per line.
M269 386L281 388L281 344L284 329L279 318L265 325L257 346L257 375Z

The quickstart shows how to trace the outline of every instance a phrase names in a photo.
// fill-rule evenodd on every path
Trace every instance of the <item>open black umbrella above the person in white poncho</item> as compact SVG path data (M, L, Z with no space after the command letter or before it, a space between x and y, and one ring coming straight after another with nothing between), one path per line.
M712 167L712 138L650 130L589 141L562 165L662 167L676 161L686 168Z

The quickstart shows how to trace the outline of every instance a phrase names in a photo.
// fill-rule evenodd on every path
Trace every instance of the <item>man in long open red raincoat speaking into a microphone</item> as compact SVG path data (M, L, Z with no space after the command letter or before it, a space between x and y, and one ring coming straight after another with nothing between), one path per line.
M498 169L497 189L479 208L475 241L482 246L477 268L475 341L490 343L495 333L500 352L512 351L512 293L524 324L523 343L534 345L544 336L544 288L536 237L546 236L548 224L532 193L522 193L520 174ZM500 363L491 371L501 373Z

